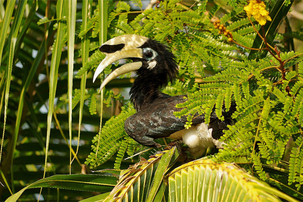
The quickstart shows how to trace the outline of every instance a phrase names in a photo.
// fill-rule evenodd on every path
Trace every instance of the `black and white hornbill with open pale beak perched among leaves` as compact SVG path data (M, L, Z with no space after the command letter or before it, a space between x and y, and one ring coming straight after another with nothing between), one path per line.
M168 81L175 81L178 72L175 56L167 46L139 35L122 35L106 41L99 50L106 57L96 69L93 82L113 62L123 58L133 61L112 71L104 79L100 90L112 79L136 71L138 77L129 94L137 113L125 121L125 131L135 141L148 147L161 147L154 140L168 137L182 139L194 150L215 145L222 148L224 143L217 139L223 135L224 129L228 129L227 125L232 124L230 111L223 109L225 121L219 120L212 112L211 121L207 125L204 124L204 115L197 116L192 120L192 127L185 129L186 116L176 118L173 112L182 110L175 106L185 102L187 95L170 96L160 91Z

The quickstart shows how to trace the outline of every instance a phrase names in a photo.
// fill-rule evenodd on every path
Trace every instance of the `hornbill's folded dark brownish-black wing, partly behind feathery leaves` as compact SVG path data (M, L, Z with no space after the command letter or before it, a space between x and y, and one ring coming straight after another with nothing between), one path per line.
M146 108L130 116L125 121L125 131L135 141L149 147L157 144L153 141L184 129L187 121L185 116L177 118L174 111L181 111L176 108L176 104L185 102L184 95L170 98L159 98L149 104ZM204 122L204 116L199 116L194 120L195 124ZM150 137L150 138L144 138Z

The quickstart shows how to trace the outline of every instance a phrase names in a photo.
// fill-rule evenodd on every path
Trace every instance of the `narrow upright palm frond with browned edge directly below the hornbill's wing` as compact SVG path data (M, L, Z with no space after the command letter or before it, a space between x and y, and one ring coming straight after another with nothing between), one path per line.
M164 194L164 175L175 163L179 153L176 147L161 151L150 159L121 171L118 184L103 201L159 201Z

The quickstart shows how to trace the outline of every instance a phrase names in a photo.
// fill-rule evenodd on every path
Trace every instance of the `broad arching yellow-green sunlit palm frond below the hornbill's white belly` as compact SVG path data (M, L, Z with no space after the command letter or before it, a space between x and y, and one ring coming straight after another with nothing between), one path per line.
M167 175L169 201L296 201L231 163L199 159ZM277 197L278 196L278 197Z

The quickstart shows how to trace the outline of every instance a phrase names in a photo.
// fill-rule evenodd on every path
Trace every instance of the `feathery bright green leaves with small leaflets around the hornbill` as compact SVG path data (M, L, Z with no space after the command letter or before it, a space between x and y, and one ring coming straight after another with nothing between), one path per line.
M164 89L164 92L170 95L191 93L188 101L177 105L184 109L175 113L176 116L186 115L191 120L194 118L191 114L205 113L205 121L208 123L210 113L215 110L217 116L224 120L221 109L224 107L228 110L231 102L236 103L237 111L232 117L236 124L230 126L221 137L228 145L215 155L216 161L238 162L240 158L240 163L249 164L246 167L248 171L253 171L252 173L256 173L262 180L272 182L274 180L267 177L263 164L267 167L275 163L280 167L279 162L284 160L285 155L289 155L285 153L286 145L288 141L294 139L295 144L291 149L291 158L285 172L287 174L289 172L288 185L294 185L299 191L302 183L300 168L303 155L301 139L303 91L300 73L288 71L285 78L282 78L279 61L269 53L258 61L250 60L249 58L255 57L255 54L248 57L248 49L228 43L227 38L219 35L213 28L211 19L215 18L220 7L215 4L205 15L203 12L205 5L205 2L201 2L187 9L178 2L161 2L159 8L146 10L129 21L127 15L130 11L129 5L126 2L119 2L117 8L109 13L108 35L109 38L123 34L143 35L155 38L171 48L180 65L179 76L182 82L177 81ZM257 33L248 18L245 18L242 5L238 4L230 13L219 19L226 29L232 31L235 41L245 47L252 47ZM267 5L274 7L273 2L267 2ZM114 19L114 16L119 17ZM252 21L259 30L261 26ZM277 45L284 51L285 47L281 42L287 36L288 34L277 34L272 46ZM290 67L301 61L302 54L294 51L283 52L279 57L285 63L285 67ZM96 65L97 61L90 69ZM303 71L302 62L298 65L298 71ZM215 75L205 77L209 74ZM203 78L202 84L194 84L197 77ZM109 137L125 136L123 130L117 131L116 125L119 121L121 119L116 117L107 122L112 128L111 131L108 131L108 127L104 128ZM190 121L186 127L189 126ZM123 124L120 127L123 127ZM107 135L103 135L100 142L111 144L112 141ZM96 137L99 138L99 135ZM127 139L122 138L119 150L112 148L108 152L112 154L115 150L120 155L125 153L127 151L127 145L123 144L125 141ZM132 144L127 148L133 147ZM94 140L94 152L97 145L100 144ZM101 155L104 153L102 150L107 149L99 147L97 159L95 153L91 153L86 163L97 166L112 156ZM115 164L115 167L118 168L118 165Z

